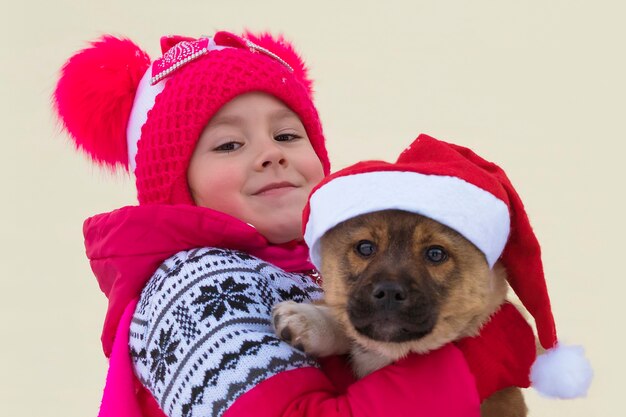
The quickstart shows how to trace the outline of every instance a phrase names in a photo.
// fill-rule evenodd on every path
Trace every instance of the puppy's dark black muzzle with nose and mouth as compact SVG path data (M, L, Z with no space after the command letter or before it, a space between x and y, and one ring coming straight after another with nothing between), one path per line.
M348 316L363 336L399 343L429 334L437 321L438 306L424 291L408 284L379 281L351 297Z

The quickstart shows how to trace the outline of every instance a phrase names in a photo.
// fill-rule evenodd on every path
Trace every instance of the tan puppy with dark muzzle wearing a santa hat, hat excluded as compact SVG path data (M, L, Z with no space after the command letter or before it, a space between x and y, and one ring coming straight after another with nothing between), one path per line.
M314 356L350 353L363 377L409 352L478 334L505 301L504 268L454 230L418 214L384 210L321 238L325 299L279 303L276 333ZM495 393L483 416L525 416L518 388Z

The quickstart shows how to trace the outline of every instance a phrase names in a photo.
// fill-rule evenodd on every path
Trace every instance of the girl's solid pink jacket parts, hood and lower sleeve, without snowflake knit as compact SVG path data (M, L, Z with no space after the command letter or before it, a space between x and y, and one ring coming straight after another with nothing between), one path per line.
M87 219L84 234L91 267L109 299L102 333L103 349L110 358L100 409L103 417L163 415L134 376L128 333L139 293L165 259L183 250L221 247L248 252L288 272L312 268L304 244L270 245L253 227L195 206L124 207ZM517 365L519 355L489 356L492 338L509 343L511 352L519 351L515 348L519 345L528 347L520 343L528 340L527 334L502 339L508 320L519 315L512 310L496 314L484 338L466 339L458 347L448 345L429 355L411 355L356 382L340 358L325 360L322 370L282 372L240 396L225 415L478 416L480 399L506 386L527 386L527 366ZM534 351L532 331L530 340ZM464 356L473 351L478 354ZM482 371L486 358L498 365L487 366L493 372ZM511 367L519 371L501 375L502 369Z

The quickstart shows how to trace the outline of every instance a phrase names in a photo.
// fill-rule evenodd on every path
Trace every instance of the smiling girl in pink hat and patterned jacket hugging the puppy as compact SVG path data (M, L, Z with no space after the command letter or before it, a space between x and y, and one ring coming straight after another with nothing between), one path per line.
M478 416L458 348L353 381L344 358L282 342L271 308L320 296L301 213L329 160L290 44L165 37L163 56L105 36L62 69L78 148L136 177L137 206L87 219L109 305L101 416Z

